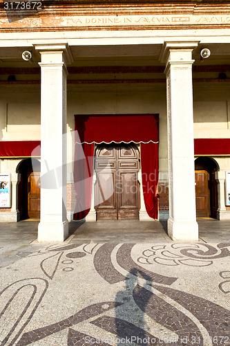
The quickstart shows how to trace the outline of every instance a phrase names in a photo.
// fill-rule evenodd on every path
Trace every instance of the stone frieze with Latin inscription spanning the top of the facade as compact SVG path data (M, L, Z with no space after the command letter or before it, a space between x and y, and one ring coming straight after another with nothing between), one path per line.
M227 6L229 8L229 6ZM85 13L76 12L65 8L61 12L48 12L41 10L36 15L30 12L15 13L7 11L0 12L0 31L62 31L62 30L159 30L163 29L193 29L193 28L230 28L230 15L226 9L215 9L196 15L192 11L180 9L178 12L172 10L151 12L143 8L134 8L127 14L122 8L116 13L110 13L108 6L106 10L93 11L91 8ZM10 20L9 20L10 19Z

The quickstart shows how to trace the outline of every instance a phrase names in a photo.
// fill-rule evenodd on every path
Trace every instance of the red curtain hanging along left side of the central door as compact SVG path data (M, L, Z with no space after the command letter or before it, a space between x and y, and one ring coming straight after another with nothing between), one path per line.
M88 215L91 203L94 144L75 144L74 184L77 201L74 220Z

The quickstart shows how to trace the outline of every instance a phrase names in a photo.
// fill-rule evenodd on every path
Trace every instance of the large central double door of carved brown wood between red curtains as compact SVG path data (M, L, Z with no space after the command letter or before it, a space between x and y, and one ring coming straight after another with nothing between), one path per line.
M95 152L97 220L139 219L140 184L137 178L139 170L140 152L136 145L111 143L97 146Z

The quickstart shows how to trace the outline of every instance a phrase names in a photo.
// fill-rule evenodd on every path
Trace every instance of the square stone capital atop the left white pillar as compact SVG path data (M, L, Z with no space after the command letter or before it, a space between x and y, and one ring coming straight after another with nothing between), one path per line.
M59 64L64 62L67 65L73 62L73 56L68 43L35 44L34 47L41 54L42 63ZM50 59L50 57L52 58Z

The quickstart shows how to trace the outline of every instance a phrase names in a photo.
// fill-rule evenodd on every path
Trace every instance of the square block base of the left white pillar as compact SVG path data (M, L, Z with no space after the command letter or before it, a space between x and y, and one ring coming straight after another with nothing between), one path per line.
M68 221L40 222L38 226L38 242L64 242L68 237Z

